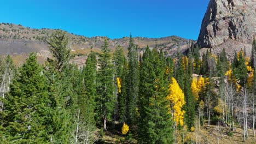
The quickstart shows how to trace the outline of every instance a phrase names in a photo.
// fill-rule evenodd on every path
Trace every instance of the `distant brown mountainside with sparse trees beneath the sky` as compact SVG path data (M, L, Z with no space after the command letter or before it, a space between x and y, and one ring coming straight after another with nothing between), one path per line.
M49 56L48 46L45 40L56 29L42 28L34 29L24 27L22 25L14 25L12 23L0 24L0 54L12 55L16 64L25 61L25 58L30 52L37 52L38 59L43 62ZM87 55L90 51L100 52L100 47L107 37L84 37L67 33L69 37L68 47L72 53L76 55ZM107 38L109 39L109 38ZM139 51L149 45L149 47L157 47L162 49L166 55L171 55L173 52L185 51L189 45L194 43L194 40L188 40L176 36L165 38L142 38L135 37L135 43L139 47ZM114 51L115 47L121 45L125 49L129 45L129 37L120 39L109 39L109 47ZM125 50L127 53L127 51Z

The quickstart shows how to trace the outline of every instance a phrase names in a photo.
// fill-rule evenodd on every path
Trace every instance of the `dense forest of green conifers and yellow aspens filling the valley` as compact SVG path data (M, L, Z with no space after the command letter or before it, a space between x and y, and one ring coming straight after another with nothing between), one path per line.
M44 65L36 53L18 69L10 56L0 59L2 143L104 143L113 129L123 135L117 143L196 143L203 125L255 136L255 40L252 52L228 61L225 50L200 55L196 45L171 57L148 46L139 55L132 37L125 56L106 39L82 69L70 62L65 32L47 42Z

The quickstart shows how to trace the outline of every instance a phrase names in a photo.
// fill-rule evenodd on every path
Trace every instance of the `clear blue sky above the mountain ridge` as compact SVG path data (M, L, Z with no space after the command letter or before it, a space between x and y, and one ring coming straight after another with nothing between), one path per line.
M210 0L2 1L0 22L109 38L178 35L197 39Z

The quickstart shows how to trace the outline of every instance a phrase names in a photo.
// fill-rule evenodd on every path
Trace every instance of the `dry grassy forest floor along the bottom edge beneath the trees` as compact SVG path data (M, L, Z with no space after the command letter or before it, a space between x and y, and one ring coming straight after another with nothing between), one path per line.
M224 144L234 144L234 143L252 143L256 144L256 136L253 137L253 130L248 129L249 136L246 139L246 142L243 142L243 129L239 127L235 127L236 130L232 131L232 134L229 133L229 127L224 128L222 126L217 127L216 125L211 125L208 127L204 125L200 128L200 130L195 130L194 132L183 132L176 131L175 143L182 143L182 139L184 139L185 143L224 143ZM100 133L100 129L97 130ZM219 140L218 140L219 139ZM121 129L109 129L108 131L104 131L104 136L101 141L97 143L137 143L135 136L132 138L125 139L125 136L121 134Z

